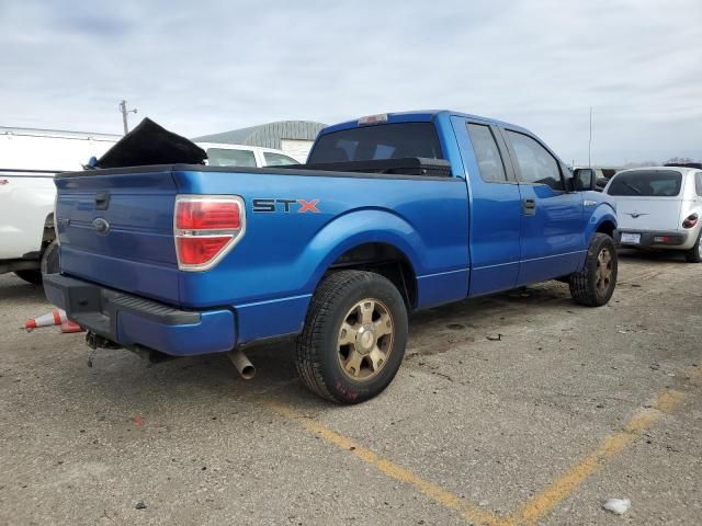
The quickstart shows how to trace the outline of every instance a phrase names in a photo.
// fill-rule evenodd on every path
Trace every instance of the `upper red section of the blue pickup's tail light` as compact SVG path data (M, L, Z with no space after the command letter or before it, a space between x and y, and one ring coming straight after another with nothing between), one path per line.
M235 230L241 227L239 203L235 201L180 201L176 228L181 230Z

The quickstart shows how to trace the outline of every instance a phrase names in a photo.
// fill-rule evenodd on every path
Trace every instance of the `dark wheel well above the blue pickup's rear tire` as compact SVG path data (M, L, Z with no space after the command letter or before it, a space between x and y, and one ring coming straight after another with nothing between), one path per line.
M375 272L389 279L403 295L408 309L417 305L417 276L401 250L388 243L365 243L341 254L327 273L338 270Z

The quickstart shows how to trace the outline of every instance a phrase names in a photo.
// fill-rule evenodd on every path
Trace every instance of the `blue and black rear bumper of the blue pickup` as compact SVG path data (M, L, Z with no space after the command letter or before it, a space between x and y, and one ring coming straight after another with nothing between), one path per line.
M45 276L44 290L68 318L125 347L191 356L230 351L236 343L230 310L180 310L60 274Z

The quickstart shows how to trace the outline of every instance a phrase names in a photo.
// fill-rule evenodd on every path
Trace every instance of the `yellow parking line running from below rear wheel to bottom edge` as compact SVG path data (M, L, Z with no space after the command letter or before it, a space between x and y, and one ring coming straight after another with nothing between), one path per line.
M305 427L307 431L315 433L319 437L324 438L330 444L347 450L364 462L373 466L382 473L390 477L399 482L415 487L421 493L427 495L432 501L441 504L444 507L453 510L461 514L463 518L473 523L486 524L490 526L497 526L503 524L503 519L498 515L480 510L479 507L463 501L460 496L444 490L443 488L422 479L412 471L396 465L395 462L381 457L378 454L367 449L353 441L341 436L339 433L331 431L329 427L317 422L316 420L308 419L298 413L294 409L278 400L263 400L263 404L274 411L275 413L284 416L288 420L295 421Z

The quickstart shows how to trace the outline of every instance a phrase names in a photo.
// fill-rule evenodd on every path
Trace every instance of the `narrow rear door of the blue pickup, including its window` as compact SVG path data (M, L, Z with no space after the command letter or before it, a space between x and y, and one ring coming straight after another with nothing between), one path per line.
M476 296L514 287L520 259L519 186L499 129L452 117L468 174L471 284Z

